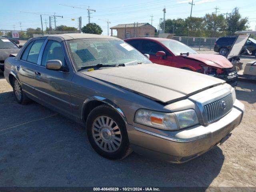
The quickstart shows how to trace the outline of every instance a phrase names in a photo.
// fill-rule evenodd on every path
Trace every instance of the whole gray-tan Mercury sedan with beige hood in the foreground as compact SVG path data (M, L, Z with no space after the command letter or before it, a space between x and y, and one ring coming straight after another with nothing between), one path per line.
M34 100L85 125L109 159L134 150L186 162L229 138L244 111L225 81L152 64L109 36L32 38L4 67L18 103Z

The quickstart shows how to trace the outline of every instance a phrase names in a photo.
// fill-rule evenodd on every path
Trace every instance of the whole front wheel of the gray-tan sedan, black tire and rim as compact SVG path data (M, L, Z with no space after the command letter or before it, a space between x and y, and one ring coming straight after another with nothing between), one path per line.
M124 120L108 105L90 112L86 132L92 148L104 158L123 159L132 152Z

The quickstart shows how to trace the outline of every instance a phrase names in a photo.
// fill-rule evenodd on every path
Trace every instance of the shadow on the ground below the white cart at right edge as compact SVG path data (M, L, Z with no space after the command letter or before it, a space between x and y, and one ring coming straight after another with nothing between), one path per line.
M256 102L256 82L250 80L243 80L238 82L236 88L236 98L238 100L246 101L250 104Z

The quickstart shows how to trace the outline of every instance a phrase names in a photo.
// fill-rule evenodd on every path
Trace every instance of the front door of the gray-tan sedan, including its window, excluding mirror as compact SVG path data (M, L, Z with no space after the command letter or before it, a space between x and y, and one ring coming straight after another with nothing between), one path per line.
M38 99L57 112L72 117L70 85L74 73L46 69L48 60L60 60L62 66L67 66L60 42L48 40L44 48L41 63L36 71Z

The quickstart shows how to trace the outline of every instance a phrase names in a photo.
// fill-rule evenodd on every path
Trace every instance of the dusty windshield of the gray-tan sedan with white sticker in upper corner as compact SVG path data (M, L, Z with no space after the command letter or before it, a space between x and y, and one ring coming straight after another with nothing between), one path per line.
M123 65L126 63L151 63L146 56L132 46L118 39L76 39L68 40L68 49L77 70L96 66Z

